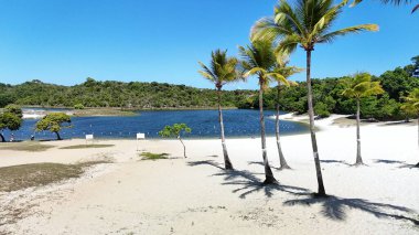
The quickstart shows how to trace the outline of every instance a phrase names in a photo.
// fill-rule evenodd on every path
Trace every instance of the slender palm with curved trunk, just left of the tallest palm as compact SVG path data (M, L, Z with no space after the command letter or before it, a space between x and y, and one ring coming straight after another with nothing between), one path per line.
M281 77L276 78L277 81L277 104L276 104L277 114L276 114L276 120L275 120L275 135L277 138L280 170L291 169L291 168L288 165L287 160L283 157L282 148L281 148L281 141L280 141L280 135L279 135L279 96L281 93L282 85L290 86L290 85L296 84L293 82L288 81L288 77L302 71L301 68L298 68L294 66L287 66L288 62L289 61L287 56L278 56L276 67L273 68L275 73L280 74L286 78L286 81L283 81Z

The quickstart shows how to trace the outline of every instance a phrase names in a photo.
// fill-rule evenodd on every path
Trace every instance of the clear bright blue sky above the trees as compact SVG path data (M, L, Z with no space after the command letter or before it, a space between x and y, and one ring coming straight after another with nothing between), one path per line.
M212 87L200 77L215 49L248 43L249 29L273 0L0 0L0 82L74 85L86 77ZM346 8L335 29L377 23L380 31L319 45L313 77L358 71L379 75L419 54L419 13L368 0ZM304 66L298 51L291 64ZM297 75L294 79L303 79ZM256 79L234 84L255 88Z

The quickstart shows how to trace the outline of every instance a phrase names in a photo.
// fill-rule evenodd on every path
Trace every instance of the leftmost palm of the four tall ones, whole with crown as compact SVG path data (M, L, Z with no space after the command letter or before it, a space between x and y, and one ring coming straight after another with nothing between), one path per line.
M218 95L218 121L221 127L222 146L224 153L224 164L226 170L233 170L232 161L228 158L227 147L224 136L224 121L222 108L222 88L225 84L240 79L237 73L238 60L235 57L227 57L227 51L216 50L211 54L212 61L210 67L198 62L203 71L198 73L214 83Z

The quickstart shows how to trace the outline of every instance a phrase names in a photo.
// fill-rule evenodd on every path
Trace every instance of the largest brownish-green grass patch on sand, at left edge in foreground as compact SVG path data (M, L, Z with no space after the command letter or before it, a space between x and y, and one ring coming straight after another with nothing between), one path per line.
M72 178L79 178L88 167L99 163L107 163L107 161L92 161L78 164L34 163L0 168L0 192L43 186Z

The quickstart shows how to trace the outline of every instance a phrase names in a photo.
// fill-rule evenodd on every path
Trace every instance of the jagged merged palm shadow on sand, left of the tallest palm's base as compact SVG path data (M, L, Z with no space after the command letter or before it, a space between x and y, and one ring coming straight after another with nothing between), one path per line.
M204 161L191 161L187 162L190 167L196 165L212 165L222 171L212 174L212 177L222 177L224 182L222 185L235 185L237 189L233 190L233 193L238 193L240 199L246 199L251 193L258 193L262 191L267 197L271 197L275 192L287 192L296 195L305 195L310 191L308 189L291 186L286 184L264 184L262 181L256 175L265 175L264 173L254 173L246 170L225 170L213 160Z

